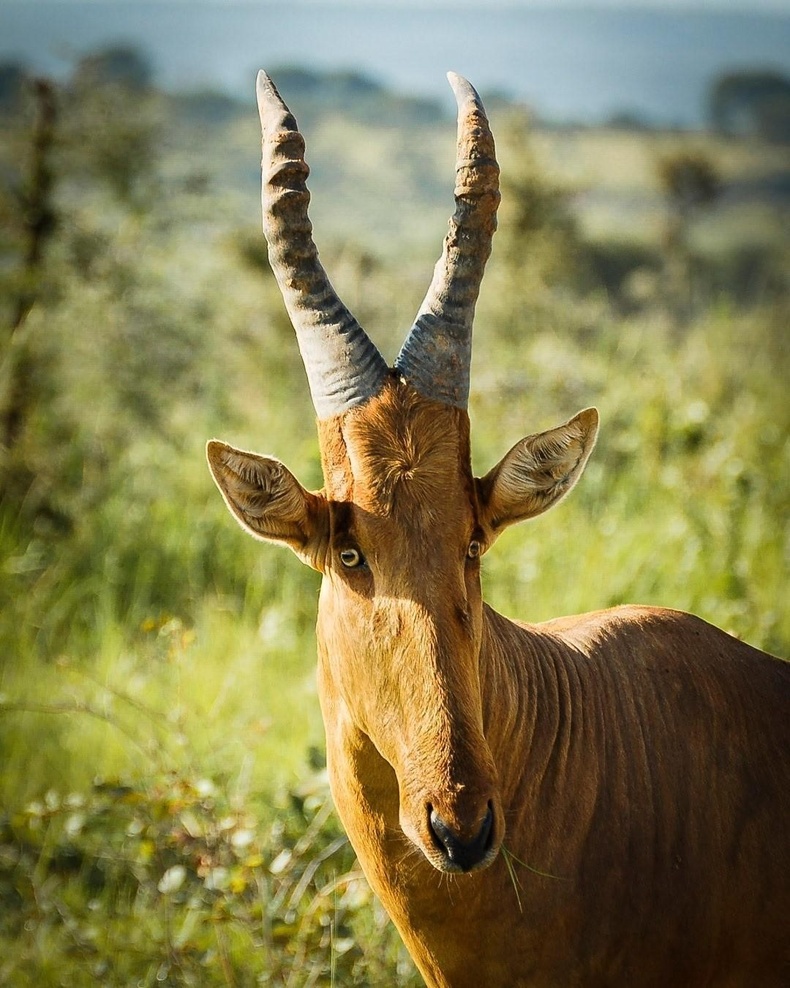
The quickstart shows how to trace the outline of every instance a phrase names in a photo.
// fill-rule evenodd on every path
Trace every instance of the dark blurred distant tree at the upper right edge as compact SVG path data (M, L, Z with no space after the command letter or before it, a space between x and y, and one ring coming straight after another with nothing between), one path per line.
M711 87L708 115L722 134L790 141L790 78L774 71L727 72Z

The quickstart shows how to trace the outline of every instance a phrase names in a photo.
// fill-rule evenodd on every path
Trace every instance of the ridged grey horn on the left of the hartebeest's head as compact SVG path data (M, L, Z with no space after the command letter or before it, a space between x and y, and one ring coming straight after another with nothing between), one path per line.
M318 260L307 215L310 169L296 120L265 72L258 73L256 89L269 262L296 330L316 414L329 418L376 394L387 365L337 297Z

